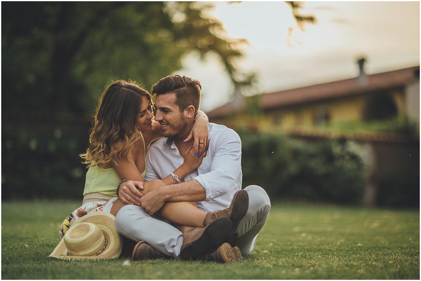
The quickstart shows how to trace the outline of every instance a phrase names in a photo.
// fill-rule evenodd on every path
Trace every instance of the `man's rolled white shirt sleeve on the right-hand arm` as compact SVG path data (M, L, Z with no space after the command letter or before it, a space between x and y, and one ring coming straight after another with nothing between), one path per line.
M206 191L206 200L222 196L231 190L241 170L241 140L234 130L221 131L214 143L210 172L198 175L197 180Z

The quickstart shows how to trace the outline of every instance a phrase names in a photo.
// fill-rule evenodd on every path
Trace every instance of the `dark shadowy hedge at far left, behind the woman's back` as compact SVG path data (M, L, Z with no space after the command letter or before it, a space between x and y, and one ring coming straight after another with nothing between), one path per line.
M88 139L84 128L3 124L2 198L82 198L86 169L78 154Z

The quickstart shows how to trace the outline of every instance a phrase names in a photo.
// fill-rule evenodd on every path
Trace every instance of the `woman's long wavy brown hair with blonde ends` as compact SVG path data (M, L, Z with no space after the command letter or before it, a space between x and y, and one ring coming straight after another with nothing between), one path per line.
M128 80L117 80L105 88L93 116L89 147L79 156L89 167L114 163L115 158L128 160L128 153L140 138L136 128L142 97L151 103L151 95Z

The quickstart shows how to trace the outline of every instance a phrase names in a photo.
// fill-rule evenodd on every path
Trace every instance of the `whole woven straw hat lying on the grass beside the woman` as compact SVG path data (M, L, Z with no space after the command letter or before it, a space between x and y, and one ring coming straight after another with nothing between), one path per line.
M65 260L115 259L123 247L115 217L106 212L84 215L48 256Z

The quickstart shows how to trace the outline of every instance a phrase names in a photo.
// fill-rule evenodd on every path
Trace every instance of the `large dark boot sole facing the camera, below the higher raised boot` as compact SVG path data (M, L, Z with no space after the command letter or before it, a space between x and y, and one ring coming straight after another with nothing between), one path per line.
M231 220L220 217L214 220L203 231L202 236L196 241L187 244L180 251L180 257L184 260L197 260L203 252L214 249L224 243L232 228Z

